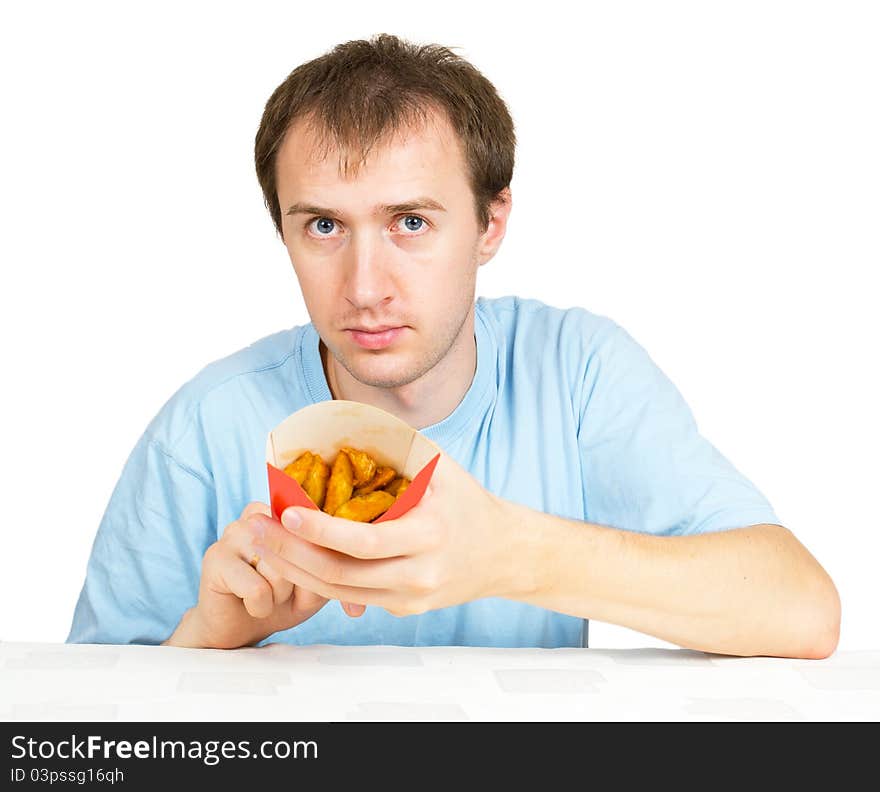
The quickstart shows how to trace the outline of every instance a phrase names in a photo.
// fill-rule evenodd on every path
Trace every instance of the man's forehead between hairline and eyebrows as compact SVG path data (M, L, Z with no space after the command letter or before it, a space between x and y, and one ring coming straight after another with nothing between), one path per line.
M447 200L469 191L461 143L443 114L430 113L379 141L360 162L359 152L328 143L306 120L287 131L278 150L278 197L287 201L358 196L376 202L395 196L442 194ZM353 167L346 169L346 162ZM380 193L380 194L377 194ZM442 200L442 199L441 199Z

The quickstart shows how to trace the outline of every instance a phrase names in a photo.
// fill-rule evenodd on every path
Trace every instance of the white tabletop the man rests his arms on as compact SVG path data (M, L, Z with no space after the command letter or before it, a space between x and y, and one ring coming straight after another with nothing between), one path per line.
M876 721L880 652L0 643L4 721Z

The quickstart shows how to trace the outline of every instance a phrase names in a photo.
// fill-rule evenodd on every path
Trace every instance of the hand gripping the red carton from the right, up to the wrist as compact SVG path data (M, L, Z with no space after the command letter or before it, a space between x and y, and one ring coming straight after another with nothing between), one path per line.
M402 517L361 523L290 507L280 524L256 518L274 543L257 552L297 587L407 616L512 593L522 570L502 504L441 454L424 496ZM349 615L359 615L354 608Z

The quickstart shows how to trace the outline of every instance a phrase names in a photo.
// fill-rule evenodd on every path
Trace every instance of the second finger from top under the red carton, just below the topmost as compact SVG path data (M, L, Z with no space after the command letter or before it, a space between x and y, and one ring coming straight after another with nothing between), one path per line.
M344 553L304 541L274 522L266 525L262 544L275 555L296 564L303 571L325 583L354 588L396 587L401 581L407 580L413 563L413 560L407 557L352 558Z

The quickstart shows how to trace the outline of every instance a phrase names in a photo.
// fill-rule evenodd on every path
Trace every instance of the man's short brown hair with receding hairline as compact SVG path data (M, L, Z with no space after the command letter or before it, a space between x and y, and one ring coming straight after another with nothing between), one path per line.
M298 66L266 102L254 161L278 233L283 237L275 160L295 121L305 119L328 150L343 152L341 167L348 173L373 146L431 110L444 112L458 134L485 230L489 204L513 176L516 137L507 106L489 80L448 48L381 34L339 44Z

